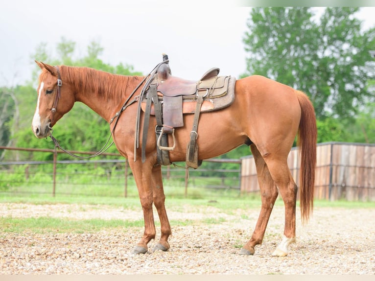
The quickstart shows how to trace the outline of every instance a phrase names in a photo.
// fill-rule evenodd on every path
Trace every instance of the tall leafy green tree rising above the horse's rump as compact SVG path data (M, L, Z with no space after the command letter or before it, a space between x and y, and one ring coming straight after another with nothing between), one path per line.
M353 117L374 98L375 28L361 30L358 7L328 7L314 21L311 7L251 11L243 39L247 74L260 74L308 94L317 117Z

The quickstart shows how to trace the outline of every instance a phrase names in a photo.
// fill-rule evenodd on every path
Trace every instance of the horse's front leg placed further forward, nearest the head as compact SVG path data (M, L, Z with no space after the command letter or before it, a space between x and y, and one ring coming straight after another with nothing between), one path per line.
M148 251L148 242L155 238L155 222L154 214L152 210L153 203L153 190L151 183L151 170L152 165L141 163L141 161L129 161L131 169L133 171L133 176L137 184L138 194L141 201L141 206L143 210L144 219L144 233L141 240L135 246L133 253L135 254L145 254Z

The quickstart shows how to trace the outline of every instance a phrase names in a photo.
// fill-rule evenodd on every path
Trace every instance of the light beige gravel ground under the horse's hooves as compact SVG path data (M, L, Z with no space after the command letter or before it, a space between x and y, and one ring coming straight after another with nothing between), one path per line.
M168 211L167 207L167 211ZM179 206L167 252L132 254L143 228L95 233L5 233L0 229L0 274L375 274L375 209L315 208L305 226L297 219L297 241L284 258L272 257L281 242L284 213L275 207L262 245L254 256L240 256L258 211L221 212L215 207ZM299 215L299 213L298 213ZM0 204L0 217L142 219L139 211L112 206ZM204 224L205 219L221 223ZM157 218L156 218L157 219ZM149 243L152 249L159 240Z

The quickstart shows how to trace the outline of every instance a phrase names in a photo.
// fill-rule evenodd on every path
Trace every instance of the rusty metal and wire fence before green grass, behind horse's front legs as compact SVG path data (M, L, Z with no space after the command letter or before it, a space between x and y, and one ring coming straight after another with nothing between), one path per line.
M1 149L7 151L0 162L0 194L138 196L132 171L127 160L119 154L104 153L92 160L59 160L60 151L54 153L49 149L0 146ZM165 195L185 198L238 197L240 160L211 159L205 162L210 162L210 165L202 165L198 169L187 169L184 163L163 166Z

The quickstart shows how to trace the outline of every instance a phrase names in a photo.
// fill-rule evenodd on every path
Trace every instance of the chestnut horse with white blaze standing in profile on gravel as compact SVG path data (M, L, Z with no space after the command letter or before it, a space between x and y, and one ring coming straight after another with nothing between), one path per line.
M50 136L52 126L70 111L76 101L83 102L103 117L112 131L116 122L111 122L111 118L120 111L124 101L128 101L117 120L113 139L119 153L129 161L143 209L144 233L134 252L146 253L148 242L155 238L152 204L158 211L161 223L161 237L155 249L167 251L171 227L164 206L162 169L157 164L154 137L149 137L147 143L140 143L140 147L146 146L145 161L142 162L141 157L135 159L135 153L141 155L141 148L134 149L137 105L141 92L135 89L144 77L36 63L42 69L32 120L32 130L37 138ZM303 222L308 220L313 209L317 139L314 108L304 93L259 75L237 80L234 90L232 105L200 115L197 139L199 160L219 156L242 144L250 145L257 167L261 210L254 233L239 254L253 255L255 246L262 242L280 191L285 205L285 225L283 238L273 255L286 256L288 246L295 241L296 235L297 185L289 171L287 156L297 133L302 157L300 207ZM192 123L193 115L184 115L184 127L175 131L176 146L169 152L170 162L186 160ZM150 117L148 136L155 136L155 126L155 118ZM172 143L171 137L168 138Z

